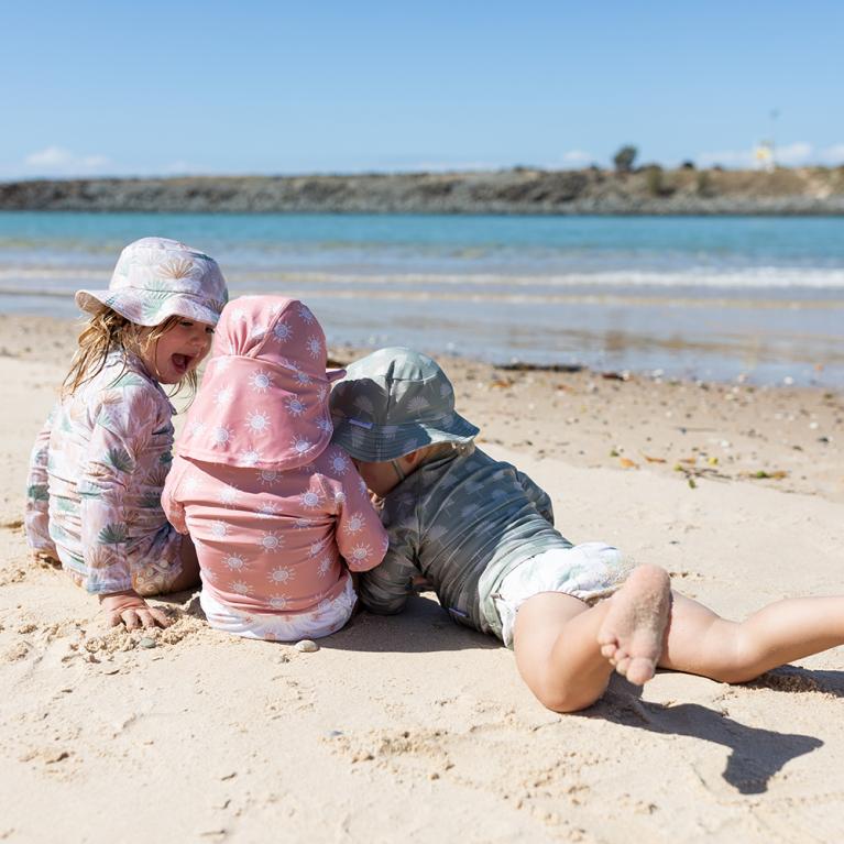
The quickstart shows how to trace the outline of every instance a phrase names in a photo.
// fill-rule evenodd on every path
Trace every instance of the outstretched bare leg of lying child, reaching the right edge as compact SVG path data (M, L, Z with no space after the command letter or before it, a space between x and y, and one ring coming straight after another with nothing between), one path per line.
M735 683L842 644L844 598L787 599L730 622L675 593L659 666Z

